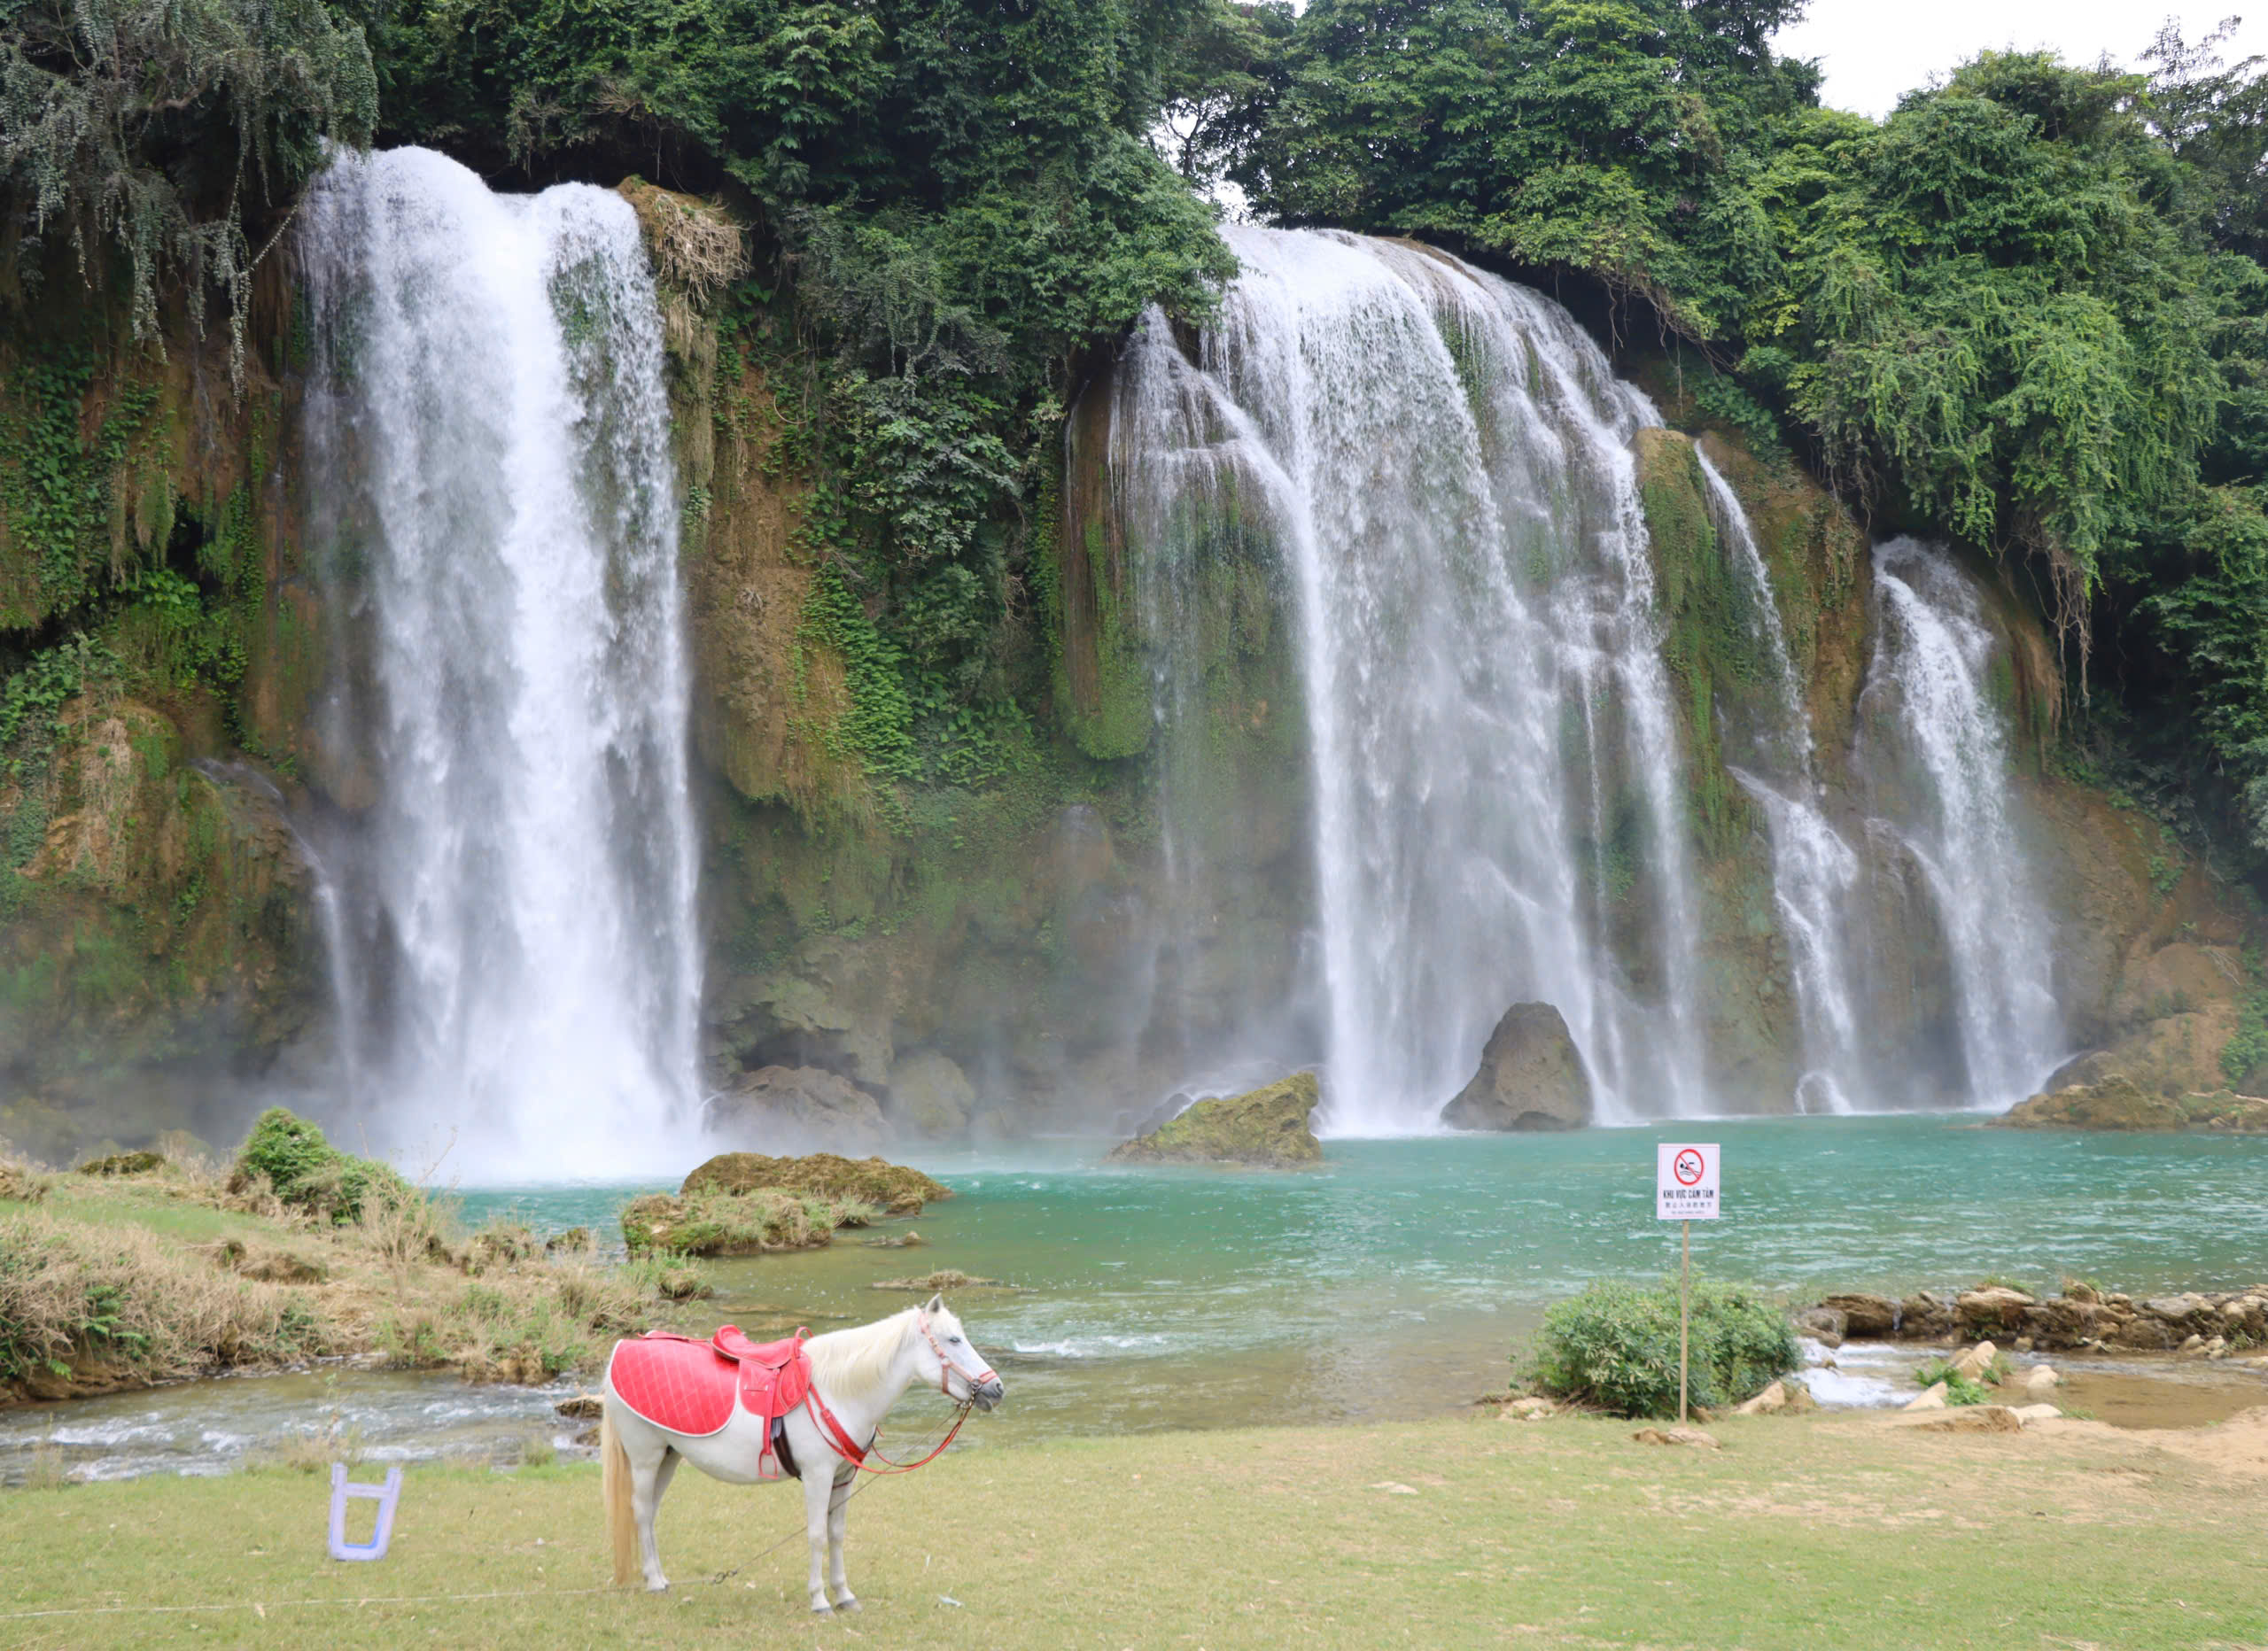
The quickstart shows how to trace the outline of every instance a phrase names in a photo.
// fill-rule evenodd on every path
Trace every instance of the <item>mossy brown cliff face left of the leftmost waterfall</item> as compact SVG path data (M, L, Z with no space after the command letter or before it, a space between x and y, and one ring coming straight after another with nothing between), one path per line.
M290 508L293 306L134 345L0 279L0 1136L229 1129L324 1041L295 816L322 621Z

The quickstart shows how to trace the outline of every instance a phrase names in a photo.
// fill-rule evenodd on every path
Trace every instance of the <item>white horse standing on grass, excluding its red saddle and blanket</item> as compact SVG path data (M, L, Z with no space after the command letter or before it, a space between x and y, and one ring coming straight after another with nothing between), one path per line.
M909 1306L875 1324L812 1336L803 1349L812 1358L812 1397L821 1406L798 1404L785 1417L787 1449L803 1476L803 1526L812 1544L812 1610L828 1617L860 1608L844 1578L844 1504L860 1467L830 1429L821 1426L814 1408L821 1415L830 1413L848 1436L846 1442L864 1454L889 1406L914 1381L925 1381L955 1404L973 1404L980 1411L1000 1404L1002 1386L968 1345L962 1322L946 1309L941 1295L932 1295L928 1306ZM671 1433L621 1402L612 1365L603 1402L599 1456L606 1517L615 1538L615 1581L628 1583L633 1569L642 1565L646 1592L658 1594L669 1588L669 1578L662 1576L662 1556L653 1542L653 1515L678 1460L689 1460L710 1479L733 1485L758 1483L769 1424L735 1399L733 1420L721 1431ZM828 1585L821 1583L821 1558L832 1565L832 1603Z

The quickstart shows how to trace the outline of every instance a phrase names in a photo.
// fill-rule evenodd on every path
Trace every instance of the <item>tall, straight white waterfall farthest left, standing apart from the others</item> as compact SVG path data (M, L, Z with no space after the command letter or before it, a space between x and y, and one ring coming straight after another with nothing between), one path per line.
M683 1168L687 660L635 215L392 150L329 168L299 252L365 1127L483 1179Z

